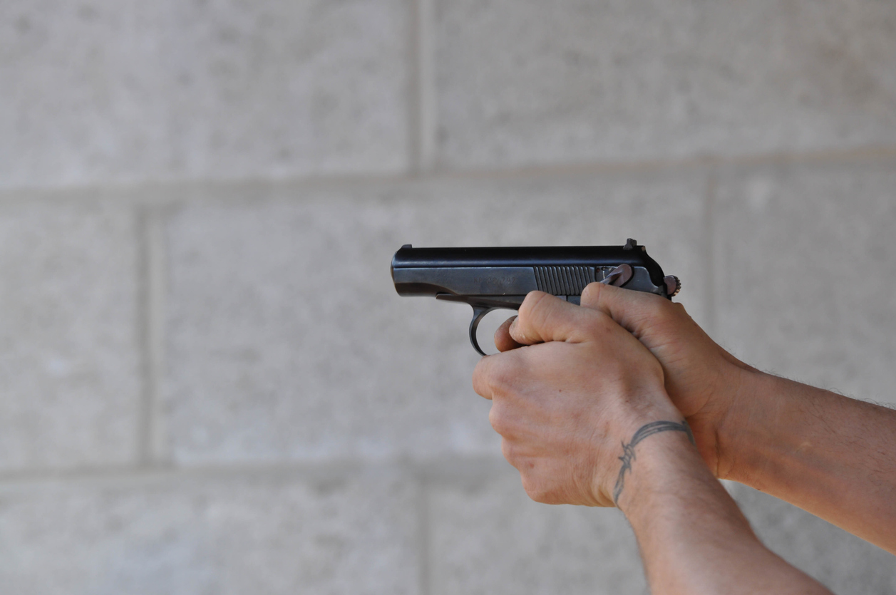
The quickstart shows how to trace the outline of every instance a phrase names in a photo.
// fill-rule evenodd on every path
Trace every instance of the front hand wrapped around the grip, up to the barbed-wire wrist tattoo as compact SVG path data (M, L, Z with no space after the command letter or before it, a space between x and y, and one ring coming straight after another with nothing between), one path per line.
M473 386L493 401L492 426L532 499L613 505L624 444L642 427L685 430L657 359L607 314L535 291L508 333L528 347L480 360Z

